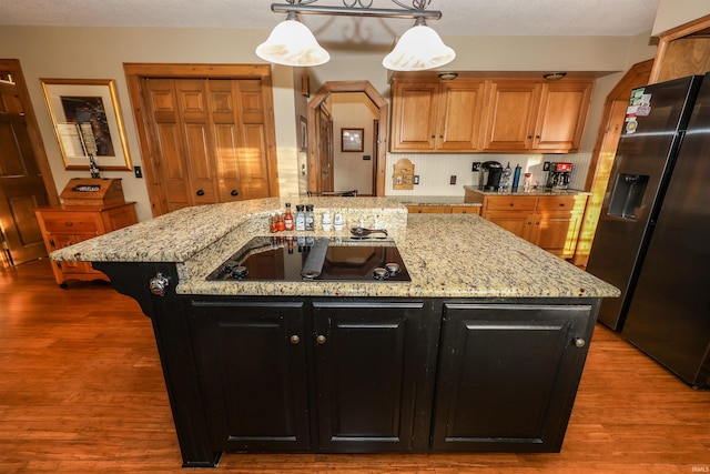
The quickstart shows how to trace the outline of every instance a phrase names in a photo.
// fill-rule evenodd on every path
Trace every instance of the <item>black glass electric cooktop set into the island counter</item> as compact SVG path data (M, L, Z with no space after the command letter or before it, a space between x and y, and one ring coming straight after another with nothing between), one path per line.
M207 281L409 282L395 242L379 238L256 236Z

